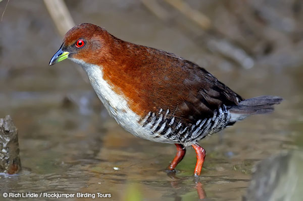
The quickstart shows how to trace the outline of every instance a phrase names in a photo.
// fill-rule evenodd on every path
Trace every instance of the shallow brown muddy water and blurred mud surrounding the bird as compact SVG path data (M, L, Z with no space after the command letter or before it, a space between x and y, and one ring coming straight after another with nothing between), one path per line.
M229 38L249 50L254 66L247 69L222 52L210 50L203 39L210 36L193 34L200 29L168 5L162 6L173 17L161 21L136 1L66 2L77 24L98 24L122 39L177 53L204 65L245 98L279 95L285 101L272 114L250 117L202 140L207 158L200 182L192 177L192 149L177 166L176 175L167 175L165 168L175 155L175 147L125 132L108 116L76 64L64 61L47 66L62 37L42 1L11 1L0 22L0 116L10 114L19 128L23 172L0 175L0 200L14 199L4 198L4 192L34 192L39 196L41 192L110 193L111 198L105 200L241 200L254 164L303 144L303 39L298 37L302 30L295 27L301 15L288 18L294 23L290 31L277 29L269 19L271 23L260 29L265 31L254 35L252 30L237 30L234 17L239 10L234 15L223 12L236 5L189 1L211 16L218 29L228 27L224 37L213 40ZM5 3L0 2L1 13ZM244 12L256 5L242 7ZM263 13L259 14L262 17ZM284 14L287 17L288 13ZM246 13L243 16L250 22ZM229 18L230 24L226 24ZM271 37L279 42L269 40L274 43L273 50L264 54L261 47ZM36 198L48 199L56 200Z

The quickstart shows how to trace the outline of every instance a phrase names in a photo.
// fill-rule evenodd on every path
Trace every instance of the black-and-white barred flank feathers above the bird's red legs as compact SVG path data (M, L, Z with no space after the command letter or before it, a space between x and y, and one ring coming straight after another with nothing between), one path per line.
M155 138L167 138L181 144L199 141L200 139L218 132L230 123L231 115L225 105L214 111L212 118L199 119L196 123L182 123L182 119L165 113L162 109L156 114L149 112L140 122L150 130Z

